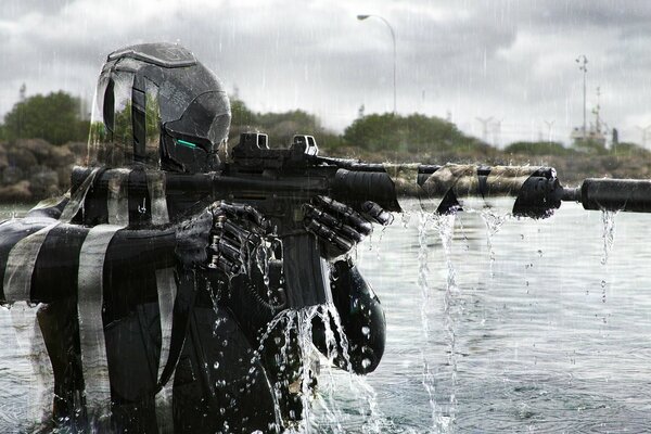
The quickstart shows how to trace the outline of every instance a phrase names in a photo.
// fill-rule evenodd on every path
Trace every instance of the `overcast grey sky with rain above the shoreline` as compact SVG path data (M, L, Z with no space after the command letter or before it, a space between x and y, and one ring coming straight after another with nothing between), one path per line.
M91 98L108 52L178 41L256 111L302 108L342 130L358 113L447 117L490 141L567 140L601 87L602 117L623 140L651 125L651 1L1 0L0 115L27 95ZM649 143L651 146L651 128Z

